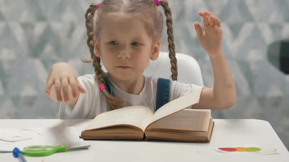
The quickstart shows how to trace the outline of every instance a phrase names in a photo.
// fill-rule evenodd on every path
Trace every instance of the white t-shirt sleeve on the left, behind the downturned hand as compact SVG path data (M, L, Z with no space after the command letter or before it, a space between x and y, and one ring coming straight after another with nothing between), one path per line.
M95 78L94 75L85 75L78 77L78 81L86 93L79 94L75 106L61 102L59 107L60 119L86 119L89 116L96 89Z

